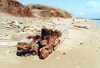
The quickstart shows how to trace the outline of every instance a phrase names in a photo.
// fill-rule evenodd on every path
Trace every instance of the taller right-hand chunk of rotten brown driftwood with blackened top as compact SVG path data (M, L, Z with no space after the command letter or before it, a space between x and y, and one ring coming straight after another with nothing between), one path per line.
M54 48L57 45L55 44L55 41L61 36L61 32L42 29L41 35L39 57L40 59L45 59L54 51Z

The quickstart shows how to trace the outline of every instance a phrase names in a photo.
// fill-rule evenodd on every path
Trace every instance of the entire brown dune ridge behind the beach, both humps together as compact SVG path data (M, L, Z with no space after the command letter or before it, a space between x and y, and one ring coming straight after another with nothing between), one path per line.
M25 6L16 0L0 0L0 11L18 17L34 17L35 15L40 17L72 17L67 11L62 9L40 4Z

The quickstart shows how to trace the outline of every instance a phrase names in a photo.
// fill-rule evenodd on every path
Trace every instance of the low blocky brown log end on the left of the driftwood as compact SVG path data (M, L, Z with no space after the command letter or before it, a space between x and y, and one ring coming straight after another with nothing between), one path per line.
M38 45L30 42L19 42L17 44L17 55L18 56L29 56L29 55L36 55L38 53Z

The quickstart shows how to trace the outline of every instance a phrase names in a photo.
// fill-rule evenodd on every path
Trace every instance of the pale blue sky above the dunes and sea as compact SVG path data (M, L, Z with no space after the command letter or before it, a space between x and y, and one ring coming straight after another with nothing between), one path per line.
M100 19L100 0L18 0L22 4L43 4L68 11L73 17Z

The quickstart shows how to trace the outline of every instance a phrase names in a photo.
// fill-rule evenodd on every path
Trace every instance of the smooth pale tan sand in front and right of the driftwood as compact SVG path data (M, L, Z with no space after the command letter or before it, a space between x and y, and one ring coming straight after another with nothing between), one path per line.
M88 29L77 28L87 26ZM92 22L71 24L65 41L47 59L18 57L16 47L0 46L0 68L100 68L100 26Z

